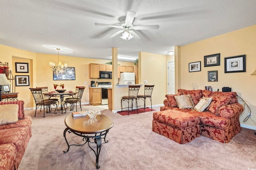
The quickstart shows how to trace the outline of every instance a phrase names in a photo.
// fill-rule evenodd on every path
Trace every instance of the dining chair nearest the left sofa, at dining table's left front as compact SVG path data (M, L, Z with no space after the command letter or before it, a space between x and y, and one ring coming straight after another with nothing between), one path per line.
M36 102L36 110L39 106L41 106L41 108L43 106L44 110L46 109L46 113L50 113L52 111L51 105L56 105L56 108L57 108L56 101L44 99L41 88L29 88L29 89L34 97L35 102ZM55 111L56 111L56 108L55 108ZM41 109L40 109L40 111L41 111ZM54 111L54 113L56 114L55 111ZM36 112L35 112L35 117L36 117Z

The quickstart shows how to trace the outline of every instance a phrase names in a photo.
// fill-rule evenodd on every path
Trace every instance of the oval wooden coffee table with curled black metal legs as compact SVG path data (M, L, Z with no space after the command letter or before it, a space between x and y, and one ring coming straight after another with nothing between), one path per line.
M108 143L108 141L106 141L106 135L109 131L110 128L113 127L114 122L112 121L112 119L110 119L108 116L106 115L97 115L96 118L94 119L90 119L90 117L88 115L84 115L84 116L78 116L78 117L72 117L72 115L68 115L65 118L65 125L66 125L66 129L64 130L64 138L66 140L66 143L68 145L68 150L70 148L70 146L73 145L69 145L68 141L66 139L66 132L68 133L74 133L75 135L78 135L80 137L83 137L83 141L85 141L85 143L81 144L81 145L75 145L75 146L82 146L86 143L88 143L88 146L90 147L90 143L96 143L97 145L97 150L95 152L94 149L92 149L90 147L90 149L92 149L96 155L96 168L100 168L99 166L99 155L100 155L100 149L101 149L101 140L102 137L104 137L104 141L105 143ZM94 141L90 141L90 138ZM64 153L67 153L68 150L64 150Z

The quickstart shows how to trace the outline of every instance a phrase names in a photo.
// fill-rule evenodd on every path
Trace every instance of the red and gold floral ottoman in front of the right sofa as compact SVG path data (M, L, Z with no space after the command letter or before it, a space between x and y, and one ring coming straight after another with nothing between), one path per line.
M153 113L152 131L184 144L200 137L200 119L196 115L177 110Z

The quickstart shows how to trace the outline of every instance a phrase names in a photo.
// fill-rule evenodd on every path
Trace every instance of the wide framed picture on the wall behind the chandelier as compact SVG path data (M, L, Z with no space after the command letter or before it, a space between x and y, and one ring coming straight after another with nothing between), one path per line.
M53 70L53 80L76 80L75 68L63 68L63 72Z

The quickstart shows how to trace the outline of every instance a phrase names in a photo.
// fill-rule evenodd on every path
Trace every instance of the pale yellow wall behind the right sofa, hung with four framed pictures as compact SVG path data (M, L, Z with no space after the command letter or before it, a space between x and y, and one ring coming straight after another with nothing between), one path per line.
M192 83L204 86L212 86L216 91L222 87L231 87L232 91L242 97L252 110L252 119L256 122L256 76L252 72L256 69L256 25L246 27L191 43L180 47L180 88L192 89ZM204 56L220 53L220 66L204 67ZM246 55L246 72L224 73L224 58L237 55ZM200 72L189 72L188 63L201 61ZM218 70L218 82L208 82L208 71ZM240 102L242 104L242 102ZM251 120L244 122L248 109L240 116L240 123L246 127L255 128L256 124Z

